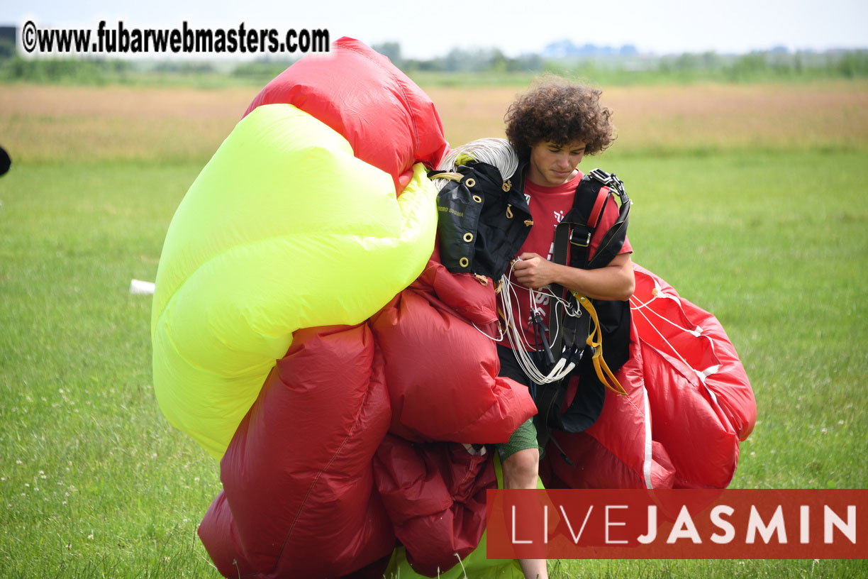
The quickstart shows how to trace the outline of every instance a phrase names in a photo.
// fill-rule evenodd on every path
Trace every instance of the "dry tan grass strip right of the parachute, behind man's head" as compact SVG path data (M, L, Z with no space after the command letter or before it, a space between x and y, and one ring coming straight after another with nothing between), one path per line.
M451 143L503 135L516 89L429 89ZM621 152L864 148L868 82L603 89Z

